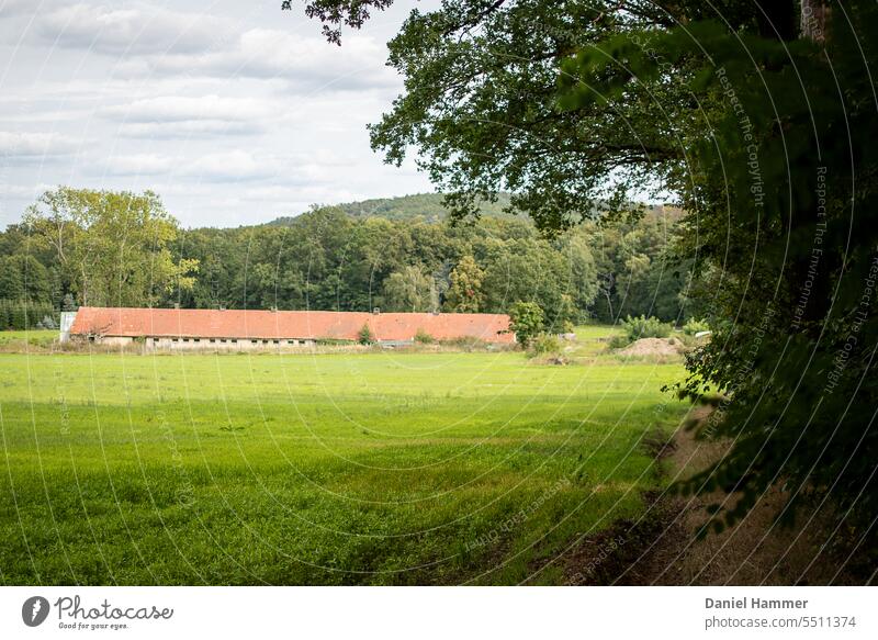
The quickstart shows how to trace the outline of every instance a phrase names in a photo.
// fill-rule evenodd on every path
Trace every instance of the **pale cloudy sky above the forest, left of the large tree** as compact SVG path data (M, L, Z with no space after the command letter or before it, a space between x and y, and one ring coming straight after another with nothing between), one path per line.
M157 192L183 226L238 226L434 191L370 149L402 90L397 2L342 46L301 2L0 0L0 227L59 184Z

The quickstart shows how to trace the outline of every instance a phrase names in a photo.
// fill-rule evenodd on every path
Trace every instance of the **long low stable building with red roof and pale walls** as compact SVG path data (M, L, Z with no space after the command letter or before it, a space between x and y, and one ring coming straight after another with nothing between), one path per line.
M488 313L359 313L82 306L64 314L61 341L143 343L147 349L302 348L356 343L363 326L379 344L405 345L418 333L437 340L511 344L509 316Z

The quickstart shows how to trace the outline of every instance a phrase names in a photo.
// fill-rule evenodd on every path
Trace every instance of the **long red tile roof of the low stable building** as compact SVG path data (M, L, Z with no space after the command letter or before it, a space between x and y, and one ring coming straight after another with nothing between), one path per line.
M356 340L363 325L378 340L412 340L418 329L436 339L474 337L514 343L509 316L489 313L361 313L81 306L72 335L200 338L335 338Z

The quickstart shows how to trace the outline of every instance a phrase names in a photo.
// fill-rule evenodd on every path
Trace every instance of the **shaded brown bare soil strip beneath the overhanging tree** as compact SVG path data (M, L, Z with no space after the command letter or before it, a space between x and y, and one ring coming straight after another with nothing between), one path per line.
M694 412L705 419L709 407ZM697 440L680 428L667 442L646 447L664 459L672 478L685 478L719 460L728 442ZM750 515L722 534L699 540L708 520L705 507L736 499L716 492L697 497L648 494L638 521L619 521L584 539L567 554L569 584L586 585L829 585L866 584L868 568L856 565L851 541L831 524L831 507L803 514L796 527L775 518L787 496L769 491Z

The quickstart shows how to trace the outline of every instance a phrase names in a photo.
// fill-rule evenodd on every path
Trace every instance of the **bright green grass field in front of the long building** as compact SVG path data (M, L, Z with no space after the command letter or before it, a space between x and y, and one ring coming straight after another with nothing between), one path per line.
M562 583L545 559L664 482L642 439L678 424L658 389L682 373L516 352L0 353L0 579Z

